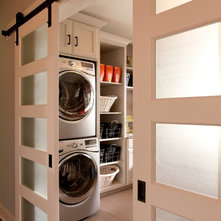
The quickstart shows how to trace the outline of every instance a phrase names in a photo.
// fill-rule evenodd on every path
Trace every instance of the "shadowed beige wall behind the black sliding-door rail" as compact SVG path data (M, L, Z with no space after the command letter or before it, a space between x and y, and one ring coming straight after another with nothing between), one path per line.
M34 0L0 1L0 30ZM0 36L0 204L14 214L14 76L13 39ZM9 47L12 50L9 50ZM12 51L12 52L11 52Z

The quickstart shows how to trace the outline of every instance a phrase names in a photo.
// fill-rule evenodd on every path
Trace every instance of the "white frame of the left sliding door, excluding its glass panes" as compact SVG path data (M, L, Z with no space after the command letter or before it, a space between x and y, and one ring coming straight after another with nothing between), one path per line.
M21 199L47 214L48 221L59 220L58 186L58 3L52 4L52 26L48 28L45 58L21 65L21 39L47 24L47 8L19 28L19 45L15 47L15 220L22 220ZM21 79L47 72L47 104L21 105ZM21 118L47 119L47 151L22 145ZM52 168L49 167L49 154ZM47 168L47 198L22 185L21 158Z

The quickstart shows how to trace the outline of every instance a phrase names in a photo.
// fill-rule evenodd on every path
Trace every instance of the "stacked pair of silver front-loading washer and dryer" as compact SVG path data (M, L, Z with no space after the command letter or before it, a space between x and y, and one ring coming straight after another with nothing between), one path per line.
M60 56L60 221L82 220L99 210L95 63Z

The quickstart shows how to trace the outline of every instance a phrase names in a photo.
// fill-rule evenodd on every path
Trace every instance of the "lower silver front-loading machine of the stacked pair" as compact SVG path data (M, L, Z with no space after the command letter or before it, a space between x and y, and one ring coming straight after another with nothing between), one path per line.
M99 210L97 138L59 142L60 221L82 220Z

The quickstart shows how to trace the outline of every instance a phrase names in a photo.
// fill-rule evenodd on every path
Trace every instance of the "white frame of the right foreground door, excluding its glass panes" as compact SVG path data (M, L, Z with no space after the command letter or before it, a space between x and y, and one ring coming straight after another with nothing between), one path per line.
M142 77L134 79L133 220L155 221L160 208L194 221L220 221L220 199L156 182L156 123L220 126L221 96L156 99L155 41L221 21L221 2L193 0L160 14L155 2L134 1L134 71ZM146 203L137 200L137 180L146 182Z

